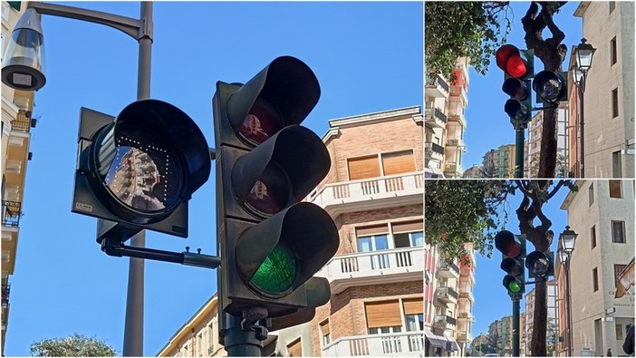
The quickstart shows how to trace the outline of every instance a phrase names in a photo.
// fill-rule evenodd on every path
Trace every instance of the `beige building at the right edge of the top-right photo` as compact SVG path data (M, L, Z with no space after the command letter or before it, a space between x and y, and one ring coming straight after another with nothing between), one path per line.
M583 19L583 37L596 52L583 103L578 88L568 86L570 152L580 162L583 104L584 178L634 178L634 3L583 1L574 16ZM572 71L568 77L573 83Z

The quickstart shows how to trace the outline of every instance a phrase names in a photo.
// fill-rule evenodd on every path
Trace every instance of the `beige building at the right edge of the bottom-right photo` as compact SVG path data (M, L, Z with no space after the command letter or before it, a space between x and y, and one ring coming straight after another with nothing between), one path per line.
M608 348L618 355L628 324L634 324L633 292L615 297L617 276L634 257L634 180L576 185L561 206L578 234L570 257L573 355L600 356Z

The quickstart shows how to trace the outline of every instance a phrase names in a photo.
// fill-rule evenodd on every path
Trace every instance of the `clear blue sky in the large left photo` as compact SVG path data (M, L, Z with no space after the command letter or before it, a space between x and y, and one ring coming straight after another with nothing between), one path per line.
M139 3L73 3L138 17ZM277 56L307 63L322 97L304 125L421 105L420 3L154 5L151 98L198 123L214 146L217 81L246 82ZM122 351L128 258L106 256L96 219L71 213L80 108L117 115L136 99L138 44L110 27L43 16L47 82L36 93L24 218L5 355L43 338L96 335ZM214 166L212 167L214 169ZM214 173L190 201L188 239L149 232L147 247L216 254ZM146 263L144 354L155 355L217 291L214 270Z

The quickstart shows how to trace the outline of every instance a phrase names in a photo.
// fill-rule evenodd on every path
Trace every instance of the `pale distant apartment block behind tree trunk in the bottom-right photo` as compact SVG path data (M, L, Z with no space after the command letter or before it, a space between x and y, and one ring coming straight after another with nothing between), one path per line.
M548 355L552 355L556 349L556 343L559 342L558 291L556 280L547 282L547 334L545 340ZM520 344L520 352L522 354L525 352L526 356L533 355L530 352L530 341L532 340L533 326L535 324L535 292L536 289L533 288L525 294L525 326L521 327L524 331L525 340Z

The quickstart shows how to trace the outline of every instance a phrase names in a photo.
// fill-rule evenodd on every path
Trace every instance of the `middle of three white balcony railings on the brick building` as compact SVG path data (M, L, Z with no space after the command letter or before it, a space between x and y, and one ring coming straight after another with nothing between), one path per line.
M360 254L334 256L318 272L329 282L341 279L387 276L409 272L422 272L424 251L421 247L395 248ZM414 270L417 268L417 270Z

